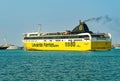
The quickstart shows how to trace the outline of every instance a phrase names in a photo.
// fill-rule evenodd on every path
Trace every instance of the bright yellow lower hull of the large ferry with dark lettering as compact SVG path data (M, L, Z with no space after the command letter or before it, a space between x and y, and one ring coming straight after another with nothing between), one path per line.
M110 50L111 42L23 42L25 50L34 51L93 51Z

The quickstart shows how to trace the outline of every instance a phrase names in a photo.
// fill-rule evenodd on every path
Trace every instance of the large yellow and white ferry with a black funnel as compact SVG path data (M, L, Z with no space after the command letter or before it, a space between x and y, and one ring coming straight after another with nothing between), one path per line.
M94 33L80 21L72 31L24 33L23 45L32 51L104 51L111 49L111 34Z

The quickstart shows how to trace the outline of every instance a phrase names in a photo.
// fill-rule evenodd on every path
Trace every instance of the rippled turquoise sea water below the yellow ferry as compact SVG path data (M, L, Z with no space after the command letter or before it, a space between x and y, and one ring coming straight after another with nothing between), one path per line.
M0 81L120 81L120 50L0 50Z

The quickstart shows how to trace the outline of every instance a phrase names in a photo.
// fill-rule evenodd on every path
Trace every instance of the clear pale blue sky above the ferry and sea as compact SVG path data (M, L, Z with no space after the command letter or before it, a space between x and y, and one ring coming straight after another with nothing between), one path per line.
M93 32L109 32L120 41L120 0L0 0L0 42L22 46L23 34L72 30L79 20Z

